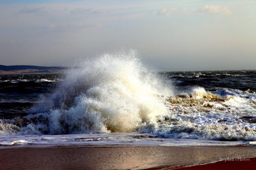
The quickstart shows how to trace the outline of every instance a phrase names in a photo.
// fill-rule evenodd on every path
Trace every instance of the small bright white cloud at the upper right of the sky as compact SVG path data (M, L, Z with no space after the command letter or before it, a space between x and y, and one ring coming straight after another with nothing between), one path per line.
M224 6L218 6L218 5L205 5L201 9L198 10L199 12L203 13L211 13L211 14L231 14L230 9Z

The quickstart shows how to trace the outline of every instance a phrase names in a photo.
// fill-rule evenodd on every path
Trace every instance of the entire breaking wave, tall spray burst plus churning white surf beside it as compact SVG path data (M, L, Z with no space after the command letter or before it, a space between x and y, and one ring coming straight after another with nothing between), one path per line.
M103 54L67 70L56 90L30 108L28 116L1 119L0 134L147 132L256 140L255 92L193 87L174 95L170 84L145 67L135 51Z

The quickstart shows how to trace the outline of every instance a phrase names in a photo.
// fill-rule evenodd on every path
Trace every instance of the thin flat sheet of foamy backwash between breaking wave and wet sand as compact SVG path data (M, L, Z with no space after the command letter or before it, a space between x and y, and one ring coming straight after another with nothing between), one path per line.
M3 139L5 141L1 141ZM20 147L20 145L22 147L28 145L35 147L55 145L234 146L248 143L245 141L160 138L146 133L0 136L0 141L2 148L6 147L6 145L13 145L13 147Z

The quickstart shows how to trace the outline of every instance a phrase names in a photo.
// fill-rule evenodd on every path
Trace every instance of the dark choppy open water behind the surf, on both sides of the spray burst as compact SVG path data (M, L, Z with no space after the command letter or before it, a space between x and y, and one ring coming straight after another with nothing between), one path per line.
M177 89L204 87L256 91L256 71L160 72ZM30 107L61 82L61 74L0 75L0 119L25 116Z

